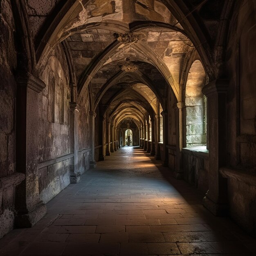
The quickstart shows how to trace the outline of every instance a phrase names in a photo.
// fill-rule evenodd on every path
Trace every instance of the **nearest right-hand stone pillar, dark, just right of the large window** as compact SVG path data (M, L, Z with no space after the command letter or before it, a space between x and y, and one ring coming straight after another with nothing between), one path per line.
M227 80L216 80L202 89L207 96L209 120L209 190L203 205L216 216L225 216L228 212L227 179L223 178L219 168L226 165L227 159L227 120L226 92Z

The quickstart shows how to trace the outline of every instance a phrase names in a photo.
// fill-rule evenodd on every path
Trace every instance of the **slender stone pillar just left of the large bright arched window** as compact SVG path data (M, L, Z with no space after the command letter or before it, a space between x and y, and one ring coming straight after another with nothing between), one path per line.
M183 162L182 162L182 148L183 148L183 109L184 103L179 101L173 105L175 109L175 129L176 129L176 159L175 159L175 171L173 173L177 180L183 179Z

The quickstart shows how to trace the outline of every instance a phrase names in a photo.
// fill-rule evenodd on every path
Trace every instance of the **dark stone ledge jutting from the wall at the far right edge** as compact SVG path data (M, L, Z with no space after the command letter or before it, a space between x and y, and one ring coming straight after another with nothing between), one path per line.
M220 168L220 173L224 178L231 178L256 186L256 173L250 173L249 171L236 170L225 167Z

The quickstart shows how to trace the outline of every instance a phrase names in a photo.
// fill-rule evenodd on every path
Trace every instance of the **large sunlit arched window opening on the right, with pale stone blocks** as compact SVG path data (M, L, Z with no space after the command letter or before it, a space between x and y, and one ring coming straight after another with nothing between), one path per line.
M186 147L207 143L207 98L202 94L205 80L204 67L197 60L191 65L186 83Z

